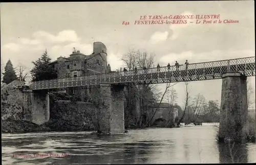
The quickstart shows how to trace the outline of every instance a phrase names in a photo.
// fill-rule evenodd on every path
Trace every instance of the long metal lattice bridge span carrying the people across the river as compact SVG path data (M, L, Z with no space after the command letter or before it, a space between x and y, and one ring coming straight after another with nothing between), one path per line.
M227 72L239 72L245 76L255 76L255 57L211 61L185 65L138 69L137 71L115 72L90 76L53 79L30 82L32 90L95 86L111 84L157 84L168 82L200 81L221 79Z

